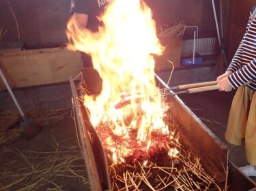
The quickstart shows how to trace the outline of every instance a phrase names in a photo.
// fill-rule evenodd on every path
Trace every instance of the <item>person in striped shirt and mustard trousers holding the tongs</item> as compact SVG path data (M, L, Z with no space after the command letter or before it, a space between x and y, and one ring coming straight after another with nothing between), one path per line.
M256 6L255 6L256 7ZM246 160L240 167L256 177L256 9L253 7L244 37L227 71L217 77L221 91L238 89L233 97L225 139L234 145L245 145Z

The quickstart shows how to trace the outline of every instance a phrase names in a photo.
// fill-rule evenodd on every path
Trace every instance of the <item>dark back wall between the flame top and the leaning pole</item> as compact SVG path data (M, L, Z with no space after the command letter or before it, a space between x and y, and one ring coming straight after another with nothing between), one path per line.
M152 7L158 27L184 21L188 25L199 26L201 37L216 35L210 0L147 0L147 3Z

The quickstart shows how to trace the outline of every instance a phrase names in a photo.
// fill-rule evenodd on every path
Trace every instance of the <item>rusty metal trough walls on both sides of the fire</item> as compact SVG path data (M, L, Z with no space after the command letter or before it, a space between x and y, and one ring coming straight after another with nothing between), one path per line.
M86 88L91 94L98 94L101 90L102 80L94 69L83 69L80 77L79 80L70 78L70 86L76 128L79 133L89 186L94 191L110 191L111 180L102 142L89 121L87 109L79 99L82 95L81 84L86 84ZM157 82L160 86L166 86L160 78ZM175 108L172 109L172 115L175 118L175 124L179 126L183 143L203 158L203 167L208 173L216 177L216 182L220 187L224 188L225 171L228 169L228 190L256 191L256 184L243 175L233 162L228 160L227 147L195 116L193 111L177 95L167 97L167 101L172 103L173 108Z

